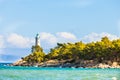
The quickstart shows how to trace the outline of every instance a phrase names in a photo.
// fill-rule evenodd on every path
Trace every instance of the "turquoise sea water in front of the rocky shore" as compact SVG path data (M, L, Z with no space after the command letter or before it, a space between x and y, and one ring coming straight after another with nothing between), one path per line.
M0 63L0 80L120 80L120 69L22 67Z

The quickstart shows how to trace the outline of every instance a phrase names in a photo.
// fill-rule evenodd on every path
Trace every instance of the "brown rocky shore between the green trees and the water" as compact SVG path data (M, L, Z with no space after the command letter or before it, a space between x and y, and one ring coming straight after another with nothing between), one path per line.
M74 67L74 68L120 68L119 61L103 61L99 63L95 60L48 60L41 63L28 63L19 60L13 66L35 66L35 67Z

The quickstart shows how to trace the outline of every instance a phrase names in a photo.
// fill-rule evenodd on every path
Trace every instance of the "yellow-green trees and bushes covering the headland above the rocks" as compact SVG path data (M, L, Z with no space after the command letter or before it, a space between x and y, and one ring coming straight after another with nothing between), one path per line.
M33 63L40 63L50 59L120 61L120 39L111 41L108 37L103 37L101 41L86 44L82 41L76 43L57 43L57 46L52 48L46 55L40 46L33 46L32 54L23 58L23 60Z

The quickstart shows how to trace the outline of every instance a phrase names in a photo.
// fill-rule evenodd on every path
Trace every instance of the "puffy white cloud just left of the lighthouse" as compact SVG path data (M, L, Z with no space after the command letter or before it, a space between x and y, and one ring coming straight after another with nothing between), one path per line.
M27 48L33 44L33 39L12 33L7 37L7 42L18 48Z

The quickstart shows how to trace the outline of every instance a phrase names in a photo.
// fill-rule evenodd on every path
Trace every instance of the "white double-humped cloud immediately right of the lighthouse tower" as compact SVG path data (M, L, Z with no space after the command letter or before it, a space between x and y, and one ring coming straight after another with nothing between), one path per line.
M42 32L40 33L40 40L41 45L48 49L55 47L58 42L74 42L76 40L76 36L69 32L57 32L55 34Z

